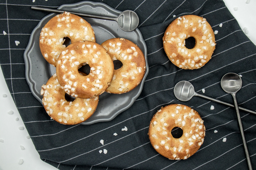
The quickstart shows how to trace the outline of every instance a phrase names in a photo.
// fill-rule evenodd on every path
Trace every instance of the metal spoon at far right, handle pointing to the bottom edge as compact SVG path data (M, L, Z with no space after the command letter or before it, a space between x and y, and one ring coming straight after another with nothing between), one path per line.
M233 96L235 108L236 108L236 116L237 116L237 120L238 120L238 124L239 124L240 133L242 136L242 141L243 141L243 145L244 145L244 149L245 149L245 155L246 155L246 159L247 159L247 163L248 163L248 168L249 168L249 170L252 170L250 155L249 155L248 148L246 145L245 134L244 134L241 116L239 114L237 100L236 100L236 92L238 92L242 87L242 79L236 73L227 73L222 77L222 79L220 81L220 85L224 91L226 91L227 93L229 93Z

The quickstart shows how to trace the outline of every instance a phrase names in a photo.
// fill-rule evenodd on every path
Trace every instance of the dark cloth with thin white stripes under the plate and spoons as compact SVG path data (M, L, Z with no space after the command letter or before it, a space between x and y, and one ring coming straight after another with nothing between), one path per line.
M34 0L33 0L34 1ZM0 0L0 63L13 100L42 161L63 170L114 169L248 169L236 113L233 108L199 97L181 102L173 87L187 80L198 93L233 103L220 86L229 72L242 75L239 106L256 110L256 47L221 0L99 0L123 11L134 10L148 48L149 73L141 95L114 120L92 125L67 126L52 121L30 92L25 79L23 52L30 34L47 12L31 5L57 8L79 0ZM167 58L162 37L177 17L193 14L207 19L217 41L211 60L197 70L183 70ZM175 15L175 17L173 17ZM223 26L219 27L222 23ZM7 34L4 35L3 31ZM15 41L20 41L16 46ZM180 103L195 109L204 120L206 136L201 148L187 160L168 160L148 139L152 116L161 107ZM211 110L211 106L215 109ZM256 115L240 111L251 162L256 169ZM121 129L127 127L127 131ZM217 130L217 133L214 131ZM215 131L216 132L216 131ZM117 136L113 134L117 133ZM226 138L226 142L223 139ZM100 140L104 140L104 145ZM224 140L225 141L225 140ZM106 149L107 154L100 150Z

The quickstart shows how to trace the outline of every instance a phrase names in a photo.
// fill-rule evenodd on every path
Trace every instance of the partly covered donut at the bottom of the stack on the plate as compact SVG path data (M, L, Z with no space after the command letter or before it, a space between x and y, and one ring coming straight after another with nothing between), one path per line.
M56 73L42 85L42 103L47 114L61 124L73 125L86 121L95 112L98 97L76 98L73 102L65 99L66 92L61 88Z

